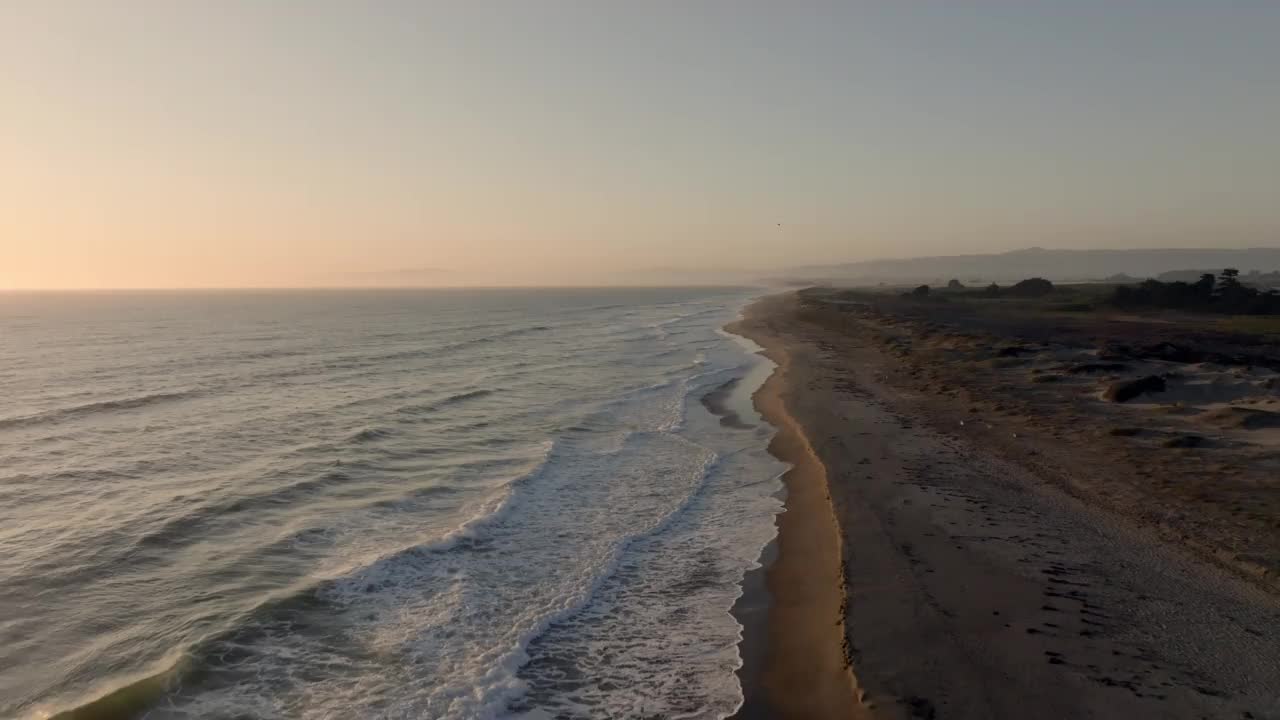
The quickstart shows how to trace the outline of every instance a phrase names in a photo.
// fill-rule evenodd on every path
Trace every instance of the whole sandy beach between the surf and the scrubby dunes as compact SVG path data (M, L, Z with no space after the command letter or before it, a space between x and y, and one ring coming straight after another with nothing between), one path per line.
M1144 521L1111 445L988 410L959 365L911 377L794 293L730 329L778 364L755 401L794 465L741 717L1280 717L1271 577Z

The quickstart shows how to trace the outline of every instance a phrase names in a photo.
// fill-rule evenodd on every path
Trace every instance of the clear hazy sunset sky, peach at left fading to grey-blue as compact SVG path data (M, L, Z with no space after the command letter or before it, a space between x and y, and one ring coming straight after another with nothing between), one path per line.
M1280 245L1272 0L0 0L0 288Z

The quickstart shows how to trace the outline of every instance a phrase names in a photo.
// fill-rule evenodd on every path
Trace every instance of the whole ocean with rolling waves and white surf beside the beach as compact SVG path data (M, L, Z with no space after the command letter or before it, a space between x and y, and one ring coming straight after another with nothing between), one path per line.
M731 715L751 296L0 295L0 717Z

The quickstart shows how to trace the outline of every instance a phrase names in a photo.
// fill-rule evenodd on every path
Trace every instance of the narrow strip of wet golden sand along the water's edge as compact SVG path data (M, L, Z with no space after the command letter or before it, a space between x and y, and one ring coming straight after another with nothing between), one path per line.
M774 368L751 401L776 428L769 454L790 465L782 474L778 532L762 552L762 566L744 578L735 603L742 624L742 707L735 720L868 717L849 662L842 546L827 471L804 428L786 407L790 359L785 345L750 329L750 314L726 331L762 347Z

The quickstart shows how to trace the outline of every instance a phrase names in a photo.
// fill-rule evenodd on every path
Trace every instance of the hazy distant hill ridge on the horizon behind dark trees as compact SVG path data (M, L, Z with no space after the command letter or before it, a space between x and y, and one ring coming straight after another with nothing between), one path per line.
M904 260L868 260L791 269L785 281L835 283L946 283L957 278L1009 283L1029 277L1051 281L1101 281L1129 275L1152 278L1187 268L1236 268L1242 273L1280 270L1280 247L1167 250L1046 250L1030 247L993 255L946 255Z

